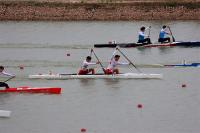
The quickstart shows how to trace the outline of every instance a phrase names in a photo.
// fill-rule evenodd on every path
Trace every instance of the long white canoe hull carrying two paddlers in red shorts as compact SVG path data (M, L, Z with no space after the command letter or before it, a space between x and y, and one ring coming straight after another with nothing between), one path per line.
M29 75L30 79L162 79L162 74L146 74L146 73L123 73L114 75L105 74L88 74L88 75L77 75L77 74L38 74Z

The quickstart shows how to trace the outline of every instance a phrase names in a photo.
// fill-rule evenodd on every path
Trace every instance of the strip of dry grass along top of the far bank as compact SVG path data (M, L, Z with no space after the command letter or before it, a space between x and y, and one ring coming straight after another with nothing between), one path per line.
M46 0L0 0L0 5L5 6L17 6L17 5L24 5L24 6L49 6L49 7L63 7L63 6L106 6L106 5L113 5L113 6L145 6L145 7L178 7L183 6L186 8L200 8L200 1L194 2L194 1L182 1L182 0L159 0L159 1L132 1L132 2L117 2L116 0L114 2L112 1L100 1L100 2L88 2L88 1L80 1L80 2L62 2L60 0L52 0L50 2Z

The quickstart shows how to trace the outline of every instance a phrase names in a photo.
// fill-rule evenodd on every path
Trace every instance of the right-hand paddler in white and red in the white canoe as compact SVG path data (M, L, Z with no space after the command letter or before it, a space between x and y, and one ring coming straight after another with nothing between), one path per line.
M105 69L105 74L119 74L119 69L117 68L117 66L130 64L119 62L119 59L120 55L115 55L114 57L112 57L108 67Z

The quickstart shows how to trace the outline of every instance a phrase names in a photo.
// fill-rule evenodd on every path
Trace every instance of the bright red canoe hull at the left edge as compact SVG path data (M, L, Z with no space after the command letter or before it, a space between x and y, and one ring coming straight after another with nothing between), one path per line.
M5 90L0 90L0 93L10 93L10 92L20 92L20 93L49 93L49 94L60 94L61 88L58 87L18 87L18 88L8 88Z

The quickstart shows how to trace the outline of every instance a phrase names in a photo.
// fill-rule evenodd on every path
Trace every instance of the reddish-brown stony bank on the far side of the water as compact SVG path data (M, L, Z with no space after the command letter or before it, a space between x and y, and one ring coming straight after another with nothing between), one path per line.
M0 20L200 20L200 2L0 1Z

